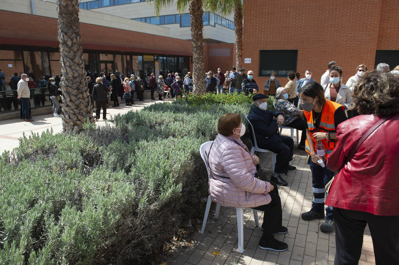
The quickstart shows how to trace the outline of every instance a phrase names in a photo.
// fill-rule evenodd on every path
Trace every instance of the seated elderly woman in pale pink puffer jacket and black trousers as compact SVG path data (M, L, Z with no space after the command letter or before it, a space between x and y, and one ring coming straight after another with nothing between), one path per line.
M245 133L238 113L226 113L217 124L219 134L209 151L209 194L212 201L231 207L265 211L259 247L284 251L288 245L273 237L284 234L281 199L273 181L255 177L259 158L251 154L240 136Z

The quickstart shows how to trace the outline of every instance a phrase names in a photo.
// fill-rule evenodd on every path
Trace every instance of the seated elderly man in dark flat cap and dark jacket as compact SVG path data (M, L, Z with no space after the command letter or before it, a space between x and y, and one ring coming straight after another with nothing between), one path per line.
M259 148L270 150L276 154L275 171L271 180L281 186L288 183L282 179L282 173L295 170L289 162L292 160L294 140L289 136L279 134L278 125L282 125L284 117L279 111L267 110L267 95L256 94L252 97L253 105L248 114L248 120L255 131L256 142ZM250 127L251 129L251 127Z

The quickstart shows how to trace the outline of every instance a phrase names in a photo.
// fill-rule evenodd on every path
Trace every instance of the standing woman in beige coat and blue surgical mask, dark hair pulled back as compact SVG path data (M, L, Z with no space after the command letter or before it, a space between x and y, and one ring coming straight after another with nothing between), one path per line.
M324 97L330 101L344 106L345 112L354 109L352 103L353 97L348 86L344 85L340 80L342 78L342 69L334 65L330 69L330 82L323 86Z

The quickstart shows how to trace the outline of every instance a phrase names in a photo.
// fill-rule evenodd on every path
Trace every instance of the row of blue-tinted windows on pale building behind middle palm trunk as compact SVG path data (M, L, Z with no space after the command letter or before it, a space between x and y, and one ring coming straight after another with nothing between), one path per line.
M159 17L146 17L146 18L133 18L133 20L150 23L153 25L166 25L166 24L176 24L180 23L180 27L190 27L190 14L177 14L177 15L166 15L166 16L159 16ZM221 25L223 27L227 27L229 29L234 29L234 22L223 18L215 13L212 12L203 12L202 15L203 25L213 26L215 24Z

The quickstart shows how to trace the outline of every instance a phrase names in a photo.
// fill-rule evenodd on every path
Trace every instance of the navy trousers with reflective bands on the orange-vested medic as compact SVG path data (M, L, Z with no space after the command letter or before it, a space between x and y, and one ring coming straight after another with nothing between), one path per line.
M324 162L326 164L326 162ZM334 172L331 171L327 165L322 168L319 165L313 164L310 159L310 171L312 171L312 187L313 187L313 200L312 210L316 212L324 212L324 194L326 193L326 185L334 176ZM326 208L326 218L334 220L332 207Z

